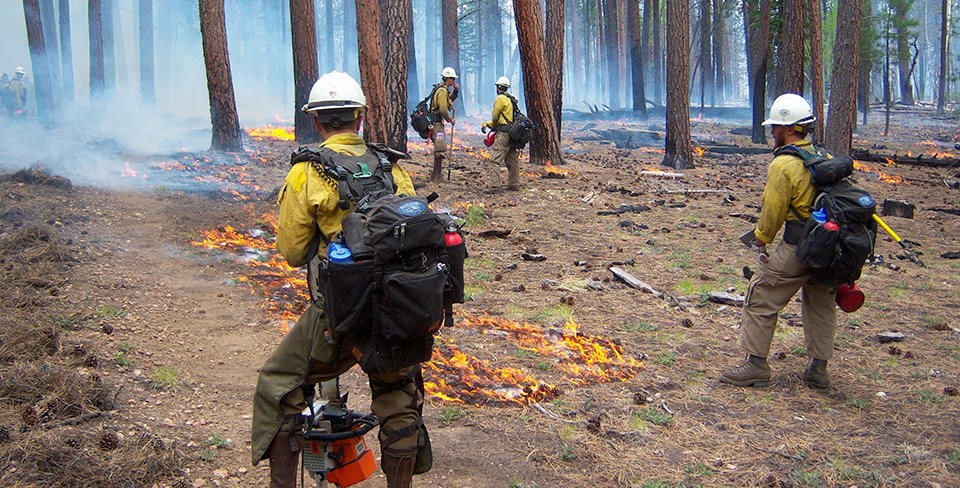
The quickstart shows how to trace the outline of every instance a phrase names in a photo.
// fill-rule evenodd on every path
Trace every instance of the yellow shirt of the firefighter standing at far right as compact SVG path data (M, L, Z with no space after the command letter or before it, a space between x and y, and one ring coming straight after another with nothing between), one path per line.
M794 144L804 151L813 151L809 140ZM754 235L765 243L773 242L783 223L797 220L790 207L797 209L801 217L810 217L810 205L816 197L810 170L803 166L803 159L792 154L781 154L767 168L767 184L763 188L763 206Z

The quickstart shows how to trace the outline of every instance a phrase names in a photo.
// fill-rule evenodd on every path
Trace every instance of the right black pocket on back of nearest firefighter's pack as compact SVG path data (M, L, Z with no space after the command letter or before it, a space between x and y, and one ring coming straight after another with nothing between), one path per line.
M405 341L432 335L443 323L443 289L447 275L436 267L422 273L396 272L384 277L380 334Z

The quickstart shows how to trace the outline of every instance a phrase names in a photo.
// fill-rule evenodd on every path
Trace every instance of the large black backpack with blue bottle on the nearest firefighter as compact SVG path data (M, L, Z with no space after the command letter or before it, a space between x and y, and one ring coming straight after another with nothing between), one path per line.
M340 207L355 205L335 240L350 250L352 262L320 256L308 280L332 327L347 336L361 369L371 374L430 359L433 334L453 324L453 304L463 303L467 256L453 217L430 210L427 199L394 194L392 162L383 149L373 146L359 157L300 150L338 181Z

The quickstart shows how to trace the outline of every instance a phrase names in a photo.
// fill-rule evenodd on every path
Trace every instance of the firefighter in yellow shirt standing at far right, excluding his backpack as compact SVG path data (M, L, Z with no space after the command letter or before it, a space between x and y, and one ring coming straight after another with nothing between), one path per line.
M807 138L816 120L803 97L788 93L777 97L763 125L771 126L776 147L792 144L812 151ZM767 169L763 206L754 231L759 247L759 267L750 280L743 305L740 345L746 359L720 376L722 383L736 386L766 386L770 382L767 356L777 326L777 315L798 290L803 290L802 320L807 355L811 361L801 378L815 388L827 388L827 361L833 354L837 328L834 290L811 281L812 269L797 259L797 243L803 233L801 219L810 218L810 205L817 195L810 171L794 154L776 156ZM797 215L799 214L799 215ZM785 225L784 225L785 224ZM773 252L766 245L780 228L783 238Z

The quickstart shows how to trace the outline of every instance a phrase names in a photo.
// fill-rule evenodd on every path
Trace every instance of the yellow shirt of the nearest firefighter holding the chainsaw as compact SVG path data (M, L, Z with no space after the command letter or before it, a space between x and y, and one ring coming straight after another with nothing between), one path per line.
M320 147L348 156L362 156L367 152L367 145L357 134L336 134L323 141ZM391 173L397 195L416 194L405 169L394 164ZM341 222L353 211L353 206L343 210L337 205L339 200L337 181L319 174L309 162L297 163L287 173L277 201L280 205L277 249L290 266L303 266L310 260L307 251L318 228L328 242L340 232ZM321 243L318 252L325 251L326 245Z

